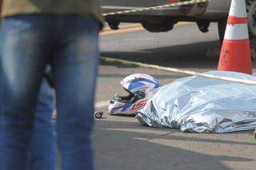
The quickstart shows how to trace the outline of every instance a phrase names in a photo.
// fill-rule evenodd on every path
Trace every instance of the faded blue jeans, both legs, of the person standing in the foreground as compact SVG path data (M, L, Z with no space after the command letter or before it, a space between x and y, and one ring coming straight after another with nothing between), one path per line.
M98 69L98 23L75 15L4 18L0 63L1 169L26 169L46 63L52 65L54 73L62 170L94 169L90 136Z

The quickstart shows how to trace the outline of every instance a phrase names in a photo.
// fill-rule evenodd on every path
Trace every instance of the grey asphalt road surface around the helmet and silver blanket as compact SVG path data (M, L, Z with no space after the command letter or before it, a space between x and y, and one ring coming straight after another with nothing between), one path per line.
M128 26L128 27L127 27ZM130 27L129 27L130 26ZM119 32L100 36L102 57L205 72L218 65L216 25L202 34L194 24L181 24L167 33L152 34L126 25ZM217 49L217 50L216 50ZM186 75L103 62L99 68L96 102L103 119L95 121L93 134L97 170L182 170L256 168L256 140L252 131L228 134L182 133L178 129L150 128L134 117L106 113L106 101L122 93L119 82L132 73L147 73L163 85Z

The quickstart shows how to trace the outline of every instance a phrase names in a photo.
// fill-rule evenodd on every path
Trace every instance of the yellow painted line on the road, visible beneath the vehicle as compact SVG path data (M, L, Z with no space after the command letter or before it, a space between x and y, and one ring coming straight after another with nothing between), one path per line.
M176 26L191 24L192 22L178 22ZM130 33L144 30L144 28L140 24L130 24L126 26L120 27L119 30L110 30L109 28L103 30L100 35L110 35L110 34L122 34L122 33Z

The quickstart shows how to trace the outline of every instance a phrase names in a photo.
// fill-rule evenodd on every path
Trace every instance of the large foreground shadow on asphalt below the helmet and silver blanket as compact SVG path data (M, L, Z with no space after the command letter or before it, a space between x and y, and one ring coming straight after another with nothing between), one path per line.
M143 129L145 131L141 131ZM152 129L157 132L146 132ZM219 156L190 151L183 149L175 140L178 143L190 141L251 145L249 142L200 139L176 134L179 133L175 129L149 128L135 122L97 121L93 136L96 169L231 169L222 161L252 161L238 155Z

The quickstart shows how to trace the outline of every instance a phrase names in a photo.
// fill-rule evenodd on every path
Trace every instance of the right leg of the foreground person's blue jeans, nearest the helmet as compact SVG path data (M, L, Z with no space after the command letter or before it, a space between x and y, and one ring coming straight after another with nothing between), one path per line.
M58 148L62 170L92 170L90 135L94 122L94 89L98 69L98 23L91 18L65 18L54 56Z

